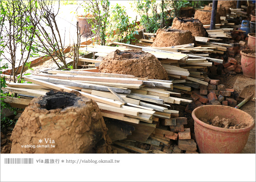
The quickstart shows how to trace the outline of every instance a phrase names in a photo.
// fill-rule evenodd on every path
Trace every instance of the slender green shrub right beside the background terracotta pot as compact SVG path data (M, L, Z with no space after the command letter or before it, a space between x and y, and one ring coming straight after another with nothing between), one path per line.
M96 44L101 41L101 45L106 45L106 32L109 22L109 6L110 1L88 0L84 1L84 12L92 16L93 19L87 19L91 24L91 31L96 36ZM111 29L111 27L109 28Z

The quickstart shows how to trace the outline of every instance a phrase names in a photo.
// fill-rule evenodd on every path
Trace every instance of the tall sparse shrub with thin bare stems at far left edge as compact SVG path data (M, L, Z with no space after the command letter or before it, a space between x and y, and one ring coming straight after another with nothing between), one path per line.
M37 1L1 1L1 51L3 58L12 64L13 80L19 66L23 74L25 64L34 52L35 26L31 25L31 13L36 12ZM22 77L22 76L20 76ZM19 79L20 82L21 78Z

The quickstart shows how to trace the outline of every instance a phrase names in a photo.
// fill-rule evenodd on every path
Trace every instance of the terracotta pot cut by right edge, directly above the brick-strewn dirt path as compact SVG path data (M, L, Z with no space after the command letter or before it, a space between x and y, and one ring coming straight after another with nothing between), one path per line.
M254 53L254 55L252 55ZM243 75L255 79L255 50L246 49L240 51Z

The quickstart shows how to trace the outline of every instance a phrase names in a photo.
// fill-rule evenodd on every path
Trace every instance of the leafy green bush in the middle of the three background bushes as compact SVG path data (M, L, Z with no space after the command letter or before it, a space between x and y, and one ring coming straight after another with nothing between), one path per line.
M114 31L110 32L113 34L116 33L118 41L125 41L125 43L129 44L132 40L135 39L134 35L139 34L136 31L136 19L130 23L129 18L125 7L116 4L116 6L112 7L112 16L110 17Z

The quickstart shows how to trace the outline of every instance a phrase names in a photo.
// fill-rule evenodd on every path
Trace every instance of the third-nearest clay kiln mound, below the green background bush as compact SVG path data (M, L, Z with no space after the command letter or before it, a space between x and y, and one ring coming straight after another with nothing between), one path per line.
M157 37L151 47L170 47L196 43L192 32L179 29L158 29Z

